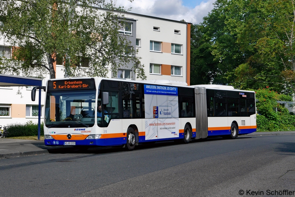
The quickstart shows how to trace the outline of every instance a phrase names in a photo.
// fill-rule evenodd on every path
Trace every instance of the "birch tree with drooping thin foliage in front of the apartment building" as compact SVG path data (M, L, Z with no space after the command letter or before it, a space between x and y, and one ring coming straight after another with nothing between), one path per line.
M110 10L99 13L94 6ZM60 58L65 76L106 77L110 70L116 76L120 66L133 64L137 77L146 78L128 36L118 33L129 25L120 12L124 8L104 0L5 0L0 10L2 38L14 46L11 59L0 59L1 73L49 72L54 79L53 62Z

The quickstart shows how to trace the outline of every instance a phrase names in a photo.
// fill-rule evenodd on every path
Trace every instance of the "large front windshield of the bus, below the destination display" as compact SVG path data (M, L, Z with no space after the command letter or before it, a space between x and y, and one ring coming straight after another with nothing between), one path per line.
M95 118L96 90L47 92L46 127L92 127Z

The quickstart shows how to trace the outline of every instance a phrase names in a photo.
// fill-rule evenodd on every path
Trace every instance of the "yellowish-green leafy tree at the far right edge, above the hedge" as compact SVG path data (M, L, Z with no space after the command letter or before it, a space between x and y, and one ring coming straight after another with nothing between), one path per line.
M246 79L273 88L295 92L293 0L250 1L248 18L240 31L237 43L243 51L251 51L249 72L237 73Z

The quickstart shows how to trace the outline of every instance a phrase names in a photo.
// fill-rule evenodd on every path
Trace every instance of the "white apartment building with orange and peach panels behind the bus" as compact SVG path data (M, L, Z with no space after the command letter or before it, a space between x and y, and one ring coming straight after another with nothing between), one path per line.
M98 12L107 9L97 8ZM191 23L163 19L124 12L128 25L122 27L118 34L127 35L131 47L138 49L137 56L141 57L147 80L164 79L186 82L190 84L190 28ZM11 47L0 41L1 56L10 58ZM109 65L111 66L111 65ZM64 77L62 61L54 63L56 78ZM108 77L111 78L111 71ZM136 78L132 65L121 67L118 78L141 80ZM46 84L49 74L42 83ZM0 101L0 125L9 123L25 123L38 120L38 99L31 101L31 87L0 87L2 96ZM21 95L17 94L21 92ZM42 109L45 94L42 92ZM44 113L41 113L41 118Z

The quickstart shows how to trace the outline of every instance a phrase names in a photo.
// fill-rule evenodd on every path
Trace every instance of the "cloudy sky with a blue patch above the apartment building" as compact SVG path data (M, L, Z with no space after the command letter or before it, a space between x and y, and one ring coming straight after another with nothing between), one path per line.
M132 13L199 24L213 9L215 0L113 0L116 6L131 8Z

